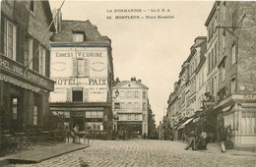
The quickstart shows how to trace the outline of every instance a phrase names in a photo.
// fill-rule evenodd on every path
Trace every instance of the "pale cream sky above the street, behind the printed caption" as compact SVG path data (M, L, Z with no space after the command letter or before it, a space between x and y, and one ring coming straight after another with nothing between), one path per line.
M49 2L51 10L58 9L62 3ZM111 39L114 78L128 81L136 77L149 87L150 104L159 125L194 39L207 34L205 22L213 5L214 1L66 0L61 11L63 20L90 20L101 35ZM120 9L144 12L114 12ZM115 19L116 16L144 19ZM168 19L154 19L158 16Z

